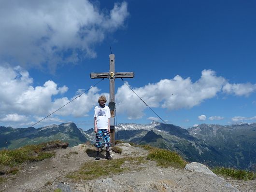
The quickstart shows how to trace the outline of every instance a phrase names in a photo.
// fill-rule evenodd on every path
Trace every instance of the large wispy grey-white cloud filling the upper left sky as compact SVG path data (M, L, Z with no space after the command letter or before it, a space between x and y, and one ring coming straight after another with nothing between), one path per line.
M100 10L89 0L9 0L0 5L0 59L21 66L77 62L83 52L96 57L94 46L123 27L128 4Z

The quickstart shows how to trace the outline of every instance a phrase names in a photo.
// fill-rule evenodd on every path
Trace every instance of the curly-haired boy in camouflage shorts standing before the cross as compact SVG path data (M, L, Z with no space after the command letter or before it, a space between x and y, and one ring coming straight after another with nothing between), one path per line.
M100 96L98 103L99 106L94 108L94 132L96 133L96 143L97 148L96 160L100 160L100 148L101 148L101 138L103 137L105 147L106 147L106 159L111 160L112 157L109 154L110 147L110 110L109 107L105 105L107 99L105 96Z

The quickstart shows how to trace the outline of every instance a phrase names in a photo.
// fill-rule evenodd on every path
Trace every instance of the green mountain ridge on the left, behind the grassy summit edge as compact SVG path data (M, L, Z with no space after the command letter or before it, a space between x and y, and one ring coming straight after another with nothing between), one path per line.
M69 146L75 146L87 140L75 123L54 124L38 129L0 127L0 149L14 149L57 139L69 142Z

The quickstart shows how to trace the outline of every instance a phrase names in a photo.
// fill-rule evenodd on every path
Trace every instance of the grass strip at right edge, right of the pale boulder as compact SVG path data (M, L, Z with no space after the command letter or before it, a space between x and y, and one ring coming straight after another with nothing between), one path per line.
M213 173L216 175L222 175L224 177L231 177L238 180L252 180L256 178L256 174L252 171L226 168L226 167L214 167L212 169Z

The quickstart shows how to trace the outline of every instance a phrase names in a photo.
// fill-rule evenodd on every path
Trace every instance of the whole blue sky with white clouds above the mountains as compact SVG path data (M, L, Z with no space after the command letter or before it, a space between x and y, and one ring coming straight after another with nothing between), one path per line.
M256 122L256 1L1 1L0 126L29 127L115 71L167 123ZM161 122L120 79L117 123ZM93 127L109 80L35 127Z

